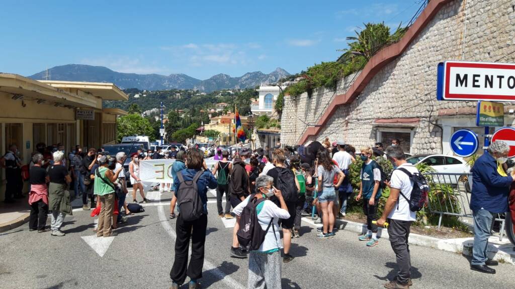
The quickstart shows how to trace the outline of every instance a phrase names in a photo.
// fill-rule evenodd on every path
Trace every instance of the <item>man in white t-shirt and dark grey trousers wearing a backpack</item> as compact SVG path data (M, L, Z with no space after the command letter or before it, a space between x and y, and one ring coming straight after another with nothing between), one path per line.
M393 159L394 165L397 167L393 171L388 186L390 187L390 196L386 200L385 209L381 219L377 220L377 226L383 226L388 222L388 234L393 252L397 256L397 266L399 267L398 275L392 281L386 283L385 288L409 289L411 278L409 270L411 268L411 260L409 256L409 227L411 223L416 221L416 212L409 209L409 200L413 183L409 176L399 170L404 168L410 173L417 173L418 170L413 165L406 162L404 151L401 147L388 147L386 153ZM400 192L405 197L400 195Z

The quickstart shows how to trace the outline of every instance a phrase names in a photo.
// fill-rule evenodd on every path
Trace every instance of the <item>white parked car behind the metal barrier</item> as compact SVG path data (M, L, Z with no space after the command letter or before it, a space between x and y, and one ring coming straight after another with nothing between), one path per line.
M467 162L459 156L449 155L414 155L406 159L410 164L427 164L431 166L437 173L456 173L467 174L470 167ZM459 176L440 176L444 178L447 184L457 184ZM438 176L436 177L438 179ZM435 180L436 180L435 179Z

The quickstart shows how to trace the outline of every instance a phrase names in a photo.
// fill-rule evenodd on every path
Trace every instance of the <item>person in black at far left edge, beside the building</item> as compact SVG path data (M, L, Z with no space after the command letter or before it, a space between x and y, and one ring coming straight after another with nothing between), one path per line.
M0 158L0 167L5 168L7 184L4 203L14 203L14 198L23 198L22 162L16 145L10 145L9 151Z

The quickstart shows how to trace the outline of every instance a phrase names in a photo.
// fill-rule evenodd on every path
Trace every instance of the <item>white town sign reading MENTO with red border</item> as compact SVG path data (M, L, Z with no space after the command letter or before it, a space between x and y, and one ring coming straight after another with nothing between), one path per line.
M440 63L437 97L438 100L515 101L515 64Z

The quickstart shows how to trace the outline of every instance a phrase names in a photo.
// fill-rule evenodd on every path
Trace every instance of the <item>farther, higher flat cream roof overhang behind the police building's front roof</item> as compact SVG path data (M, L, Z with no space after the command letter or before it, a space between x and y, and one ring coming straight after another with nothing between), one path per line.
M54 80L38 80L39 82L64 89L66 91L74 91L78 89L85 93L92 94L102 100L128 100L126 95L113 83L104 82L79 82L79 81L54 81Z

